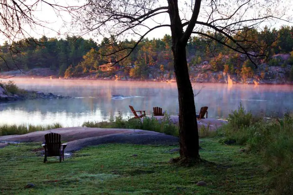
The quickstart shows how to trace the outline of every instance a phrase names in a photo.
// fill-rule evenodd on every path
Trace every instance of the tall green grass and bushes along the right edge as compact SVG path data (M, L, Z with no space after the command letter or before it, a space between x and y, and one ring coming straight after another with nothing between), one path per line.
M293 191L293 116L255 119L240 105L229 115L228 124L218 131L224 140L235 140L245 145L252 154L263 156L263 163L273 175L272 194L290 194Z

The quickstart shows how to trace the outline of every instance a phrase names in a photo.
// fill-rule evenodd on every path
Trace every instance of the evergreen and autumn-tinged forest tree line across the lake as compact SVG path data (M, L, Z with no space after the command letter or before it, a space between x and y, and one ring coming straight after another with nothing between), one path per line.
M210 33L210 36L225 41L220 33ZM293 62L293 26L281 26L280 29L263 30L249 29L239 31L234 35L235 39L248 37L249 41L241 44L249 52L260 57L258 62L267 62L271 66L292 65ZM125 39L117 41L104 38L101 44L92 39L67 36L65 39L48 38L42 36L40 39L25 39L13 42L11 45L6 41L0 45L0 69L7 71L7 67L19 67L24 70L32 68L50 68L58 71L59 76L64 76L65 71L70 76L78 76L82 73L98 70L98 66L108 62L115 62L127 55L136 40ZM233 43L227 42L229 45ZM150 67L173 70L173 56L171 53L172 39L165 35L162 39L142 39L133 52L119 65L130 67L128 73L131 77L146 77ZM291 59L279 63L270 57L279 53L290 53ZM108 55L109 53L114 53ZM230 73L253 74L253 64L250 60L239 62L241 53L236 53L223 44L216 44L212 39L198 35L189 39L186 47L187 59L190 66L198 65L208 61L213 71L224 71ZM223 58L228 56L226 61ZM292 66L293 67L293 66ZM291 71L292 72L292 71Z

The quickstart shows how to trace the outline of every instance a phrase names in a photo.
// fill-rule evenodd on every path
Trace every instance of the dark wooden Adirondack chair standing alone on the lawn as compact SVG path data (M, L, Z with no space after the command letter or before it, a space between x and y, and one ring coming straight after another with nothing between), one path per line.
M47 161L48 156L59 156L64 161L64 150L67 144L61 144L61 135L58 133L48 133L45 135L45 144L42 144L45 149L44 163ZM62 149L61 149L62 146Z

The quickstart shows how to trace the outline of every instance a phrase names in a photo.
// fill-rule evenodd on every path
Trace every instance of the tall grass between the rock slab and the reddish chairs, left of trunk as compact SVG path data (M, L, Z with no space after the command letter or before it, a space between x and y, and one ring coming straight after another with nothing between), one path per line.
M157 120L155 117L123 119L122 116L117 116L110 122L84 122L82 127L142 129L173 136L179 135L178 125L172 123L168 114L165 114L161 120Z

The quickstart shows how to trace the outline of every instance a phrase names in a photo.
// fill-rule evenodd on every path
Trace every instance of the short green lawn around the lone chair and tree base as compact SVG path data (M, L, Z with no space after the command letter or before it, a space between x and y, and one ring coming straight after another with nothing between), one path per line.
M43 163L40 143L0 149L2 194L264 194L268 175L256 155L240 146L202 139L200 155L212 164L168 163L178 146L108 144L86 147L62 163ZM135 156L136 154L137 156ZM133 156L134 155L134 156ZM197 186L205 181L207 187ZM27 183L36 188L25 189Z

